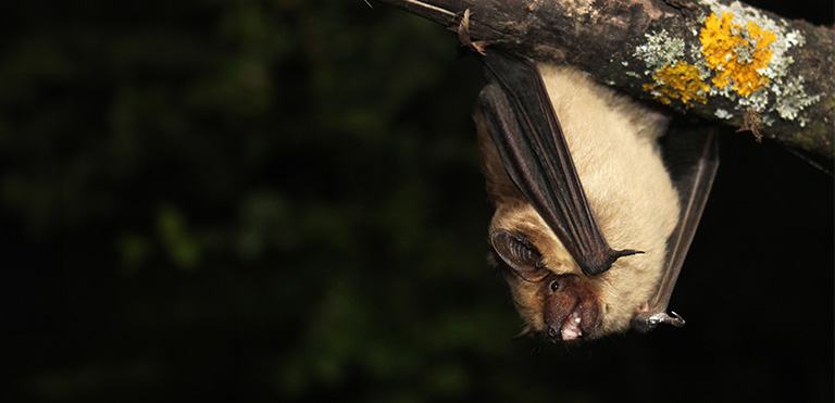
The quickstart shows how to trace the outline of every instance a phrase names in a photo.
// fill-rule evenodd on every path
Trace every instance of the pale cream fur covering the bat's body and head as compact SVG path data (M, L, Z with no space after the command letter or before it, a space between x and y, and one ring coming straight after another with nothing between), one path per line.
M621 257L594 278L583 275L560 240L513 188L481 124L485 176L497 207L490 232L504 228L527 236L549 269L576 274L595 290L602 314L601 333L622 331L656 289L666 240L678 219L678 197L656 146L665 121L574 68L540 65L539 70L606 239L613 249L645 253ZM528 329L543 330L537 286L519 278L508 280Z

